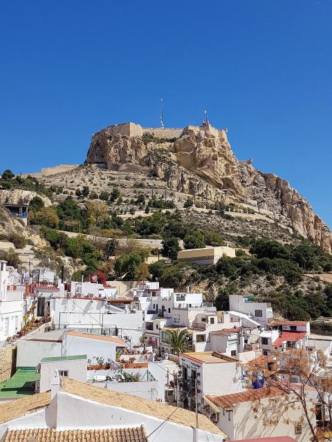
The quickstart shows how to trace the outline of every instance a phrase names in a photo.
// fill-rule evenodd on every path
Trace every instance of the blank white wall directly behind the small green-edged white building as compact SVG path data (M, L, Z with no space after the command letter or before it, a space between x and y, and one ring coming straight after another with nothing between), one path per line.
M17 341L17 367L37 367L42 358L61 356L62 343L36 340Z

